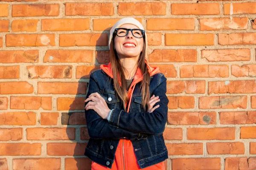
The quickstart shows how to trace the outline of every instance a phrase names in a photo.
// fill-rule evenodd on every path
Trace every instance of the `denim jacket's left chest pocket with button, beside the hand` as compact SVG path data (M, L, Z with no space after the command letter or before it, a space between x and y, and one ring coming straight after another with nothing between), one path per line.
M120 100L116 97L114 91L101 91L100 94L105 99L109 109L118 108Z

